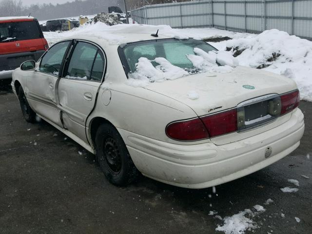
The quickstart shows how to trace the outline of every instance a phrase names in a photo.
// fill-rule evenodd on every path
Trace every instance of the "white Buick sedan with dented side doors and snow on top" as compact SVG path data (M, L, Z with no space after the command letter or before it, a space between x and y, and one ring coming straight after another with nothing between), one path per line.
M299 146L304 120L291 79L237 66L200 40L123 37L65 39L12 81L26 121L37 115L95 154L113 184L140 172L207 188Z

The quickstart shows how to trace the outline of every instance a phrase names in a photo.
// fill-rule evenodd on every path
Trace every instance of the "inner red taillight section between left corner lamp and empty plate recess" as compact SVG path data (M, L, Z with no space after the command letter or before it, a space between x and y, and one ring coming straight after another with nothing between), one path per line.
M237 130L236 109L200 118L205 124L210 137L216 137Z

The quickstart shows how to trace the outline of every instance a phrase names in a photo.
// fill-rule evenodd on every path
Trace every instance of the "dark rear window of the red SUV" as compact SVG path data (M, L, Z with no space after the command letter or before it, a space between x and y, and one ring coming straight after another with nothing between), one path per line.
M42 37L37 21L0 23L0 42L39 39Z

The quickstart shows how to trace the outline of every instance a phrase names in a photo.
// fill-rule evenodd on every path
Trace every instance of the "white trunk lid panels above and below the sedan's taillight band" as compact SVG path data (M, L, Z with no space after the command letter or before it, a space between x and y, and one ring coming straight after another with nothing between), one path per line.
M271 94L280 95L296 88L295 82L289 78L242 66L236 67L234 71L227 74L202 73L176 80L156 82L147 87L151 91L188 105L194 110L197 116L206 116L235 108L239 103L249 99ZM188 93L190 92L195 92L195 96L198 96L198 98L189 98ZM252 108L254 110L261 109L261 106L254 105ZM260 110L260 112L263 114L263 110ZM247 113L252 113L252 111L247 111ZM289 113L285 116L278 117L268 124L255 127L249 131L212 137L211 140L215 144L226 144L251 137L286 122L290 118L290 115ZM252 119L254 118L256 116Z

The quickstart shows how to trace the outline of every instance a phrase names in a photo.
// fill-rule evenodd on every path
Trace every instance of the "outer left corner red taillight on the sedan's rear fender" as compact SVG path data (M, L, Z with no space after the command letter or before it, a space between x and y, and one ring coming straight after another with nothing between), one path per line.
M166 134L175 140L200 140L209 138L205 126L199 118L170 123L166 128Z

